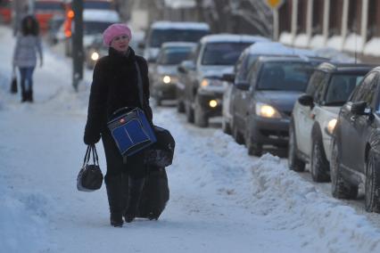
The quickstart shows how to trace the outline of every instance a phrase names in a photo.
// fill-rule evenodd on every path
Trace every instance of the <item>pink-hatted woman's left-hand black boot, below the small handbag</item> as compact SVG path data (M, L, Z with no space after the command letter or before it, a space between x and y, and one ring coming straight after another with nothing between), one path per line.
M121 227L123 225L123 199L121 176L106 176L104 179L107 188L108 203L110 204L110 221L113 226Z

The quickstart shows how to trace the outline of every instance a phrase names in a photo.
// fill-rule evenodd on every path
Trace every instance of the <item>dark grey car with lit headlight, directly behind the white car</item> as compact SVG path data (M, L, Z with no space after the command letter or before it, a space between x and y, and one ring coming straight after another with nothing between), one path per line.
M250 155L260 156L263 145L287 147L293 105L322 58L260 56L247 81L235 83L244 93L235 97L233 135Z

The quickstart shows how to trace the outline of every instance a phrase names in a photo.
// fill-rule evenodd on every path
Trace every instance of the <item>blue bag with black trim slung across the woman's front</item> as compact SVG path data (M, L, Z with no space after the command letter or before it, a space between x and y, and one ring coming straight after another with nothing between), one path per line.
M128 108L115 111L113 115L123 113L107 123L122 156L133 155L157 141L144 111L139 108L126 110Z

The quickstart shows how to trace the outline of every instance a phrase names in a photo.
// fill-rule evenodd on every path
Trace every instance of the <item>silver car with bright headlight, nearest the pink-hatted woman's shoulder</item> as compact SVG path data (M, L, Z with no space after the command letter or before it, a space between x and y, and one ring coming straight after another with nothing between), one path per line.
M189 42L166 42L161 45L157 61L150 68L152 96L157 105L162 100L176 99L178 64L189 59L195 45Z

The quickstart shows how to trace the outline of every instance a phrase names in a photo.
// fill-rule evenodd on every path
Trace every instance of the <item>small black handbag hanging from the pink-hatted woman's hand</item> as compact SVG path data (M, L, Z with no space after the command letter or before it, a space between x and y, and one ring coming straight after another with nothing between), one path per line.
M91 153L93 154L94 164L88 164ZM81 192L94 192L102 187L103 174L99 167L99 160L95 145L88 145L83 166L77 177L77 189Z

